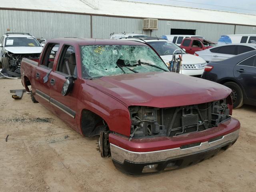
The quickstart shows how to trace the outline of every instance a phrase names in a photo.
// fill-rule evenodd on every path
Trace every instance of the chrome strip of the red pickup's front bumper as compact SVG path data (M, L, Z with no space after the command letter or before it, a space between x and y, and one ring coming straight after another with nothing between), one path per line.
M158 162L162 160L167 161L176 158L181 158L184 156L190 156L202 151L207 151L208 149L210 150L217 146L225 146L226 144L236 141L238 136L239 130L236 130L230 134L224 135L222 138L218 140L212 142L202 142L198 146L185 149L172 148L152 152L132 152L110 143L110 150L112 159L120 163L124 163L125 160L134 163Z

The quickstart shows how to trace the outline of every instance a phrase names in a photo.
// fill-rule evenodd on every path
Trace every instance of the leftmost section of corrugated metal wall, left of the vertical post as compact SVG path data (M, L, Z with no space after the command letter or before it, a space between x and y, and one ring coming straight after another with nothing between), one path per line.
M90 16L53 12L0 10L0 35L7 32L28 32L49 38L90 38Z

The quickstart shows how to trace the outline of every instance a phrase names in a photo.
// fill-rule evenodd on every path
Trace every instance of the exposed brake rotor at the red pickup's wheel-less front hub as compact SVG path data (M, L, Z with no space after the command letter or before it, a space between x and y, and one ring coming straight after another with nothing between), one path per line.
M108 142L108 131L100 132L100 137L98 141L98 149L101 157L109 157L110 153L110 145Z

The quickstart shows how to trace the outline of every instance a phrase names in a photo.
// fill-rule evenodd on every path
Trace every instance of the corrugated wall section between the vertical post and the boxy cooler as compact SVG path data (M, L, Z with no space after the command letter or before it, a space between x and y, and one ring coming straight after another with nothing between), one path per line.
M110 38L110 33L142 34L142 19L92 16L92 37Z

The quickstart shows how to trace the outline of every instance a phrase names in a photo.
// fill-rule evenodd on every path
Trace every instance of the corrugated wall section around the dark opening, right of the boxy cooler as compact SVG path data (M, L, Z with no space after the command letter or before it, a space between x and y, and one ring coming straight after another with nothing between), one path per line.
M158 30L152 31L151 36L170 34L171 28L193 29L196 30L196 35L204 36L206 39L216 42L223 34L234 34L235 26L228 24L159 20Z

